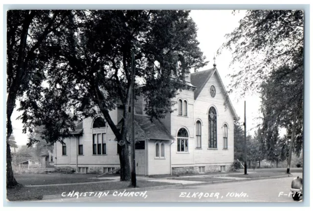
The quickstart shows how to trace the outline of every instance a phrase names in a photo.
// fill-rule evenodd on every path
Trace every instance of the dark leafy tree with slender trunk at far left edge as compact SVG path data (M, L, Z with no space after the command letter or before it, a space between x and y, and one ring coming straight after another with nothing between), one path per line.
M7 12L7 101L6 101L6 185L17 185L11 166L8 140L12 134L11 115L17 99L30 87L40 85L49 60L42 44L64 23L66 10L9 10Z

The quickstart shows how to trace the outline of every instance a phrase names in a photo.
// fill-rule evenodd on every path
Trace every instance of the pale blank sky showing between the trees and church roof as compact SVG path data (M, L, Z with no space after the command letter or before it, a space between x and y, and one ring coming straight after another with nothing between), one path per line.
M200 42L199 47L203 52L206 60L209 63L201 68L201 70L210 69L213 67L213 57L219 47L225 42L225 34L232 32L236 27L239 26L239 21L245 16L245 11L241 10L236 15L232 14L232 10L192 10L190 17L196 22L198 27L198 41ZM231 52L224 50L221 55L216 56L216 67L222 78L224 86L227 88L230 84L230 79L227 74L231 73L233 66L229 67L232 56ZM235 67L236 68L236 67ZM240 122L244 120L244 102L246 101L246 122L247 122L247 135L254 134L255 127L259 123L255 118L260 116L260 98L257 93L239 97L236 93L232 93L230 100L236 110L237 115L240 117ZM16 120L22 112L18 112L19 102L16 102L17 106L14 110L11 120L13 134L17 145L25 145L27 143L27 134L22 133L22 121Z

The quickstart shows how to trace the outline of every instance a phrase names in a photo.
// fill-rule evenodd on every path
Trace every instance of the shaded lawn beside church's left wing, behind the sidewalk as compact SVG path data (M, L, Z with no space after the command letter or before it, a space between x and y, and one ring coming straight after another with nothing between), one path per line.
M96 182L99 179L89 179L96 177L99 174L63 174L63 173L48 173L48 174L15 174L14 177L18 183L22 185L50 185L50 184L66 184L66 183L82 183ZM115 174L111 174L114 176ZM105 179L101 179L105 181Z

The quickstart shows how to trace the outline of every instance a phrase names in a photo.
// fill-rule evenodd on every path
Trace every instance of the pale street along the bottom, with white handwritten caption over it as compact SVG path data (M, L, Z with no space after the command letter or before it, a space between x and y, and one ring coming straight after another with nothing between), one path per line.
M302 173L291 177L239 181L212 185L197 185L165 190L148 190L144 197L118 196L119 192L108 192L101 197L66 197L43 200L49 202L293 202L290 193L291 181ZM138 190L139 191L139 190ZM126 190L127 192L127 190ZM121 195L121 194L120 194Z

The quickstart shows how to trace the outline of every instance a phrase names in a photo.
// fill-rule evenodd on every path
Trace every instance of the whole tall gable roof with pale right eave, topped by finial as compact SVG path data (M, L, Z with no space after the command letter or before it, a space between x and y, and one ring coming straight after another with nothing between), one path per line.
M226 97L228 97L228 102L229 102L229 105L230 105L230 110L232 111L233 113L233 116L234 116L234 119L235 120L239 120L239 117L235 111L235 108L234 106L232 105L230 99L229 99L229 96L227 94L227 91L225 89L225 86L223 84L223 81L221 79L221 76L219 74L219 72L217 71L217 68L216 67L213 67L211 69L208 69L208 70L203 70L203 71L199 71L199 72L196 72L196 73L192 73L191 74L191 84L194 84L195 86L197 86L197 89L194 91L194 96L195 96L195 100L198 98L199 94L201 93L203 87L205 86L205 84L209 81L209 79L212 77L212 75L216 73L217 76L218 76L218 79L220 81L220 83L222 84L222 89L223 89L223 92L225 93Z

